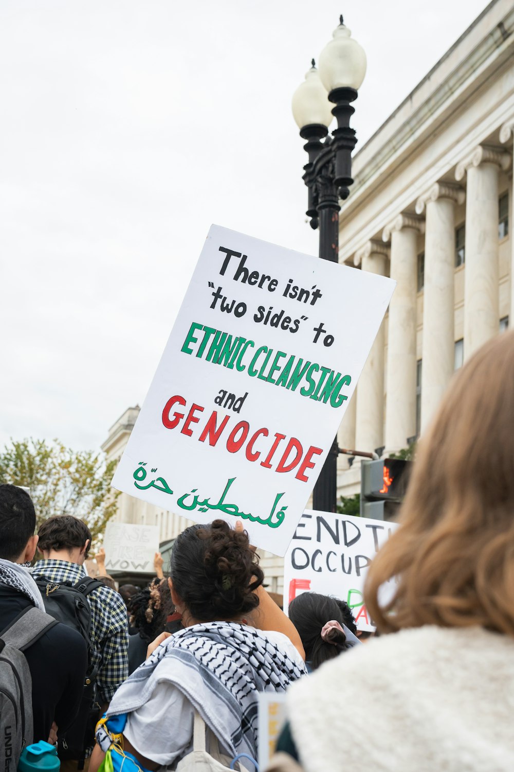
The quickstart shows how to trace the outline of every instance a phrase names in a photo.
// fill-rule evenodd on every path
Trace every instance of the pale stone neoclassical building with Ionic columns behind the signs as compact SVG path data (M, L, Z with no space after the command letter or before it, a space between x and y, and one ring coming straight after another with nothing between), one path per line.
M514 5L492 0L354 156L339 260L397 286L341 424L341 447L405 448L455 369L514 319L513 134ZM138 413L129 408L110 429L109 459L123 452ZM339 495L358 493L358 459L340 455L338 464ZM188 524L125 493L118 518L158 524L161 540ZM265 554L263 566L281 592L282 560Z

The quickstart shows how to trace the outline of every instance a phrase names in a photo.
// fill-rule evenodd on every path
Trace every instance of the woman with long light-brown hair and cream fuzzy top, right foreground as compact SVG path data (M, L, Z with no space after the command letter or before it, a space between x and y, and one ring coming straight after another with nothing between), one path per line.
M399 523L365 587L378 631L395 635L294 684L279 750L307 772L512 770L514 332L455 375Z

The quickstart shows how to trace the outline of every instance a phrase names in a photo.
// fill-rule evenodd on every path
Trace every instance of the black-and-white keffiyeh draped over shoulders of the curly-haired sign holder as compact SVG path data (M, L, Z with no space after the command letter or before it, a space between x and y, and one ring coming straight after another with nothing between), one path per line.
M234 756L257 757L257 693L283 692L304 675L265 632L236 622L206 622L166 638L119 687L108 716L144 705L167 681L189 699Z

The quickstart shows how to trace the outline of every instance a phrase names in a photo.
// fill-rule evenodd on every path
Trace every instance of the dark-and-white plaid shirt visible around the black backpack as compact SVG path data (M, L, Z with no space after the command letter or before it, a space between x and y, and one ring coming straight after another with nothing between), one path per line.
M45 577L59 584L76 584L86 576L84 567L68 560L38 560L32 568L34 577ZM121 595L110 587L98 587L87 596L91 607L91 642L93 661L102 665L96 676L99 700L109 703L114 692L129 677L129 631L126 605Z

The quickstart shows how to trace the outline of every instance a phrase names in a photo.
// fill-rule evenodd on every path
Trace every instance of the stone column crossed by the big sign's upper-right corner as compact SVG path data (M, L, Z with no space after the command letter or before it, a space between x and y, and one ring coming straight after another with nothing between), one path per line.
M354 265L363 271L385 276L388 248L382 242L368 241L355 252ZM355 418L355 449L373 452L384 445L384 323L381 323L375 342L357 384ZM354 464L359 457L355 457Z

